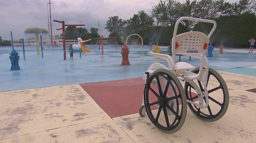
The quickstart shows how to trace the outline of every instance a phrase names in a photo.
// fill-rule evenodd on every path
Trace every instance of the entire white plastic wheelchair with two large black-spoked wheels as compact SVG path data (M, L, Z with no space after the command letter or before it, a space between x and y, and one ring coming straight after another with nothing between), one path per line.
M182 20L212 23L208 36L203 32L190 31L177 35ZM175 133L183 125L187 106L203 121L216 121L226 113L229 105L229 92L221 75L209 68L205 56L209 39L216 28L214 20L181 17L175 23L172 38L172 53L148 55L167 60L168 68L153 63L144 74L145 88L139 115L147 113L150 121L160 131ZM175 62L176 54L200 59L200 67L187 62ZM181 82L185 83L184 87Z

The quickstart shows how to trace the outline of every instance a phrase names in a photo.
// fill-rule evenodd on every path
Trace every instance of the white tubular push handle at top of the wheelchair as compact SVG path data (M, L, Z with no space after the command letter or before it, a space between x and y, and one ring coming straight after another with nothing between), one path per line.
M210 37L212 36L212 33L214 32L214 30L215 30L216 27L217 27L217 23L216 23L214 20L201 19L201 18L194 18L194 17L187 17L187 16L184 16L184 17L179 18L179 19L177 20L177 22L175 23L175 27L174 27L174 31L173 31L173 37L175 37L175 36L177 35L177 29L178 29L179 23L180 23L182 20L191 20L191 21L212 23L212 24L213 24L213 27L212 27L212 30L210 31L210 33L208 34L208 38L210 38Z

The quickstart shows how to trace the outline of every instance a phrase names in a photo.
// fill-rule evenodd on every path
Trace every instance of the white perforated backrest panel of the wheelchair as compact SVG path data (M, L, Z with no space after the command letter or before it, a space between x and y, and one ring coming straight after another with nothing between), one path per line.
M203 32L191 31L179 34L175 43L176 54L205 54L208 42L209 39Z

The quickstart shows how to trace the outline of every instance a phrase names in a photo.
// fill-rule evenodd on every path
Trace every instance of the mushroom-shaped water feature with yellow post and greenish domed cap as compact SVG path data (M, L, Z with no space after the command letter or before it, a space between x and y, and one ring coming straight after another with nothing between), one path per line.
M38 35L42 35L42 37L44 36L44 38L49 38L47 37L48 35L48 31L44 28L40 28L40 27L31 27L31 28L27 28L24 31L24 34L27 38L35 38L36 41L36 48L37 48L37 55L39 55L39 38ZM41 43L42 44L42 43Z

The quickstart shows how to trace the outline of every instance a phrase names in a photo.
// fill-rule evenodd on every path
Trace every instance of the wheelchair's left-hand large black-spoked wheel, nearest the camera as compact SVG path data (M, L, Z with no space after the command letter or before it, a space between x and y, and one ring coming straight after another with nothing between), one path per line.
M182 127L187 115L185 91L170 70L158 69L147 79L144 104L150 121L160 131L175 133Z

